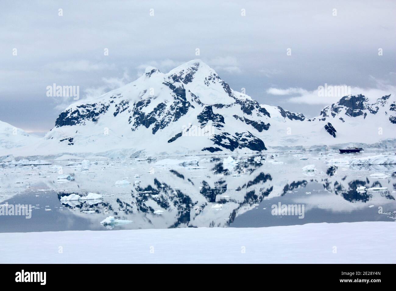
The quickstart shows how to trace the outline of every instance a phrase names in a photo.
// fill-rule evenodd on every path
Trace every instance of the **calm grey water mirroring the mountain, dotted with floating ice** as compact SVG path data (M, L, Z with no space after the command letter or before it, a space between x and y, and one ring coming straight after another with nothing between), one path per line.
M45 166L3 168L0 204L33 208L30 219L0 215L0 232L395 221L394 165L330 165L326 161L345 157L335 153L233 157L231 163L221 156L98 159L90 160L88 166L81 160L51 161ZM316 170L302 171L306 165ZM73 176L74 181L57 179L60 173ZM122 180L129 184L115 185ZM359 192L359 186L386 190ZM84 197L89 192L103 197L61 201L72 193ZM279 203L297 205L303 212L273 215L273 205ZM131 222L100 223L109 216Z

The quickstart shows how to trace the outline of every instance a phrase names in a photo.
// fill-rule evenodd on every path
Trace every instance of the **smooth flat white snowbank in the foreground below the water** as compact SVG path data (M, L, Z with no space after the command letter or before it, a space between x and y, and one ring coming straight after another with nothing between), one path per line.
M0 263L396 262L393 222L2 233L0 241Z

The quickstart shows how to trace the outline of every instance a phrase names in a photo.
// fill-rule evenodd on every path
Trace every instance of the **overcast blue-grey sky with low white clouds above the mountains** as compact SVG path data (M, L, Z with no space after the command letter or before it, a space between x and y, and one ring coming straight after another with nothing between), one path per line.
M317 97L325 83L392 93L395 15L394 0L3 0L0 120L48 131L73 102L47 97L53 83L94 96L198 58L260 103L317 116L334 102Z

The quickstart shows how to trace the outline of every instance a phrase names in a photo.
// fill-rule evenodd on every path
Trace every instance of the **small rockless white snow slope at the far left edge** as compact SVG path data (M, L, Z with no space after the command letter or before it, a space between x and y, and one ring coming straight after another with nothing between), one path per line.
M0 150L7 151L15 147L33 145L38 140L38 137L29 135L23 129L0 121Z

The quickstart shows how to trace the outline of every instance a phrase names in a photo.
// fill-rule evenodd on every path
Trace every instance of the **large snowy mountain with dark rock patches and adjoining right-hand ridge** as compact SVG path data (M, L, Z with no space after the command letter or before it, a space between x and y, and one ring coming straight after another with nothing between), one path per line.
M377 97L376 97L377 98ZM263 152L396 139L394 96L345 96L308 119L234 91L200 60L145 74L66 108L36 154L186 155Z

